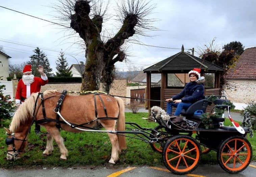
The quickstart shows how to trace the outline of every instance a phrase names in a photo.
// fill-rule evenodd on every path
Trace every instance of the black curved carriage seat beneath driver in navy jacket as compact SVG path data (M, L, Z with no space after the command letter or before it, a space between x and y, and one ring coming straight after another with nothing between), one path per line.
M205 113L207 106L208 106L207 99L198 100L197 102L193 103L187 110L182 109L181 115L192 116L197 110L202 110Z

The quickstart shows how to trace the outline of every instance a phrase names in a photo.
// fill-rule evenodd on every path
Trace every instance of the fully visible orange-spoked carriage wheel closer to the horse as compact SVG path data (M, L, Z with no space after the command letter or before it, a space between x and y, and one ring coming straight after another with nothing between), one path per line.
M187 135L171 137L164 146L162 158L171 172L184 175L194 171L201 160L201 147Z

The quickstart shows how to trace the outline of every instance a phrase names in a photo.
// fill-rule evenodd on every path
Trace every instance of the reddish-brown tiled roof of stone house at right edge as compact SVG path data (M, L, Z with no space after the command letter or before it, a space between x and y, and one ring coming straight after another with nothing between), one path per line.
M227 72L228 79L256 79L256 47L246 49Z

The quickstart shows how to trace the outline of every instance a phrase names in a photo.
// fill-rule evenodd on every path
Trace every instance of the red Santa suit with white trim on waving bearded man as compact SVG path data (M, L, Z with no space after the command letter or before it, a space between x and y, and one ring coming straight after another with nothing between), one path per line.
M25 68L24 68L24 70L25 70ZM27 72L24 72L24 70L23 70L23 73L27 73ZM16 104L18 104L20 102L24 102L24 100L29 98L32 93L40 92L41 86L43 86L47 83L48 83L48 78L46 75L44 75L44 76L41 75L41 78L34 77L34 82L32 82L31 84L27 84L27 85L25 85L23 80L20 79L18 82L16 95L15 95Z

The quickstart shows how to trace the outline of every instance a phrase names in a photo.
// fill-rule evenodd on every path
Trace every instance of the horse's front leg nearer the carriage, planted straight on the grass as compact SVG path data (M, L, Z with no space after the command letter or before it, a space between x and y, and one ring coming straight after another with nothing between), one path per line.
M63 139L60 136L59 129L56 127L46 127L46 130L52 135L53 139L59 146L59 151L61 153L60 159L67 160L68 150L63 143Z

